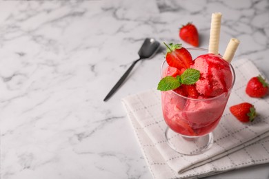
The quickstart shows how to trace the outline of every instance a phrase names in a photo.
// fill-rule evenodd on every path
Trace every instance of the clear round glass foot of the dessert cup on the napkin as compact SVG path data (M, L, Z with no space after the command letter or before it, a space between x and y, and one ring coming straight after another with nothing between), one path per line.
M165 134L167 143L172 149L179 154L188 156L201 154L212 147L214 143L212 132L205 136L190 137L177 134L167 127Z

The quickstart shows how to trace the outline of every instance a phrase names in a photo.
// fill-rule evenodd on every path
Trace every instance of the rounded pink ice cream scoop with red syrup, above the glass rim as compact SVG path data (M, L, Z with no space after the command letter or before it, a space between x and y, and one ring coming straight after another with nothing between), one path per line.
M203 54L191 66L200 71L196 88L206 98L219 96L232 86L232 72L227 61L215 54Z

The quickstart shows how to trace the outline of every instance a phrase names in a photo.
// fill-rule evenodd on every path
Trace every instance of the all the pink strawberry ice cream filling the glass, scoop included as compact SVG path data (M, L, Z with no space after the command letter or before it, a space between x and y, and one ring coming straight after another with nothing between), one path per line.
M215 54L198 56L191 68L200 72L195 88L198 98L186 98L172 90L161 92L163 117L170 127L185 136L203 136L215 129L232 87L232 71L228 62ZM164 74L180 75L168 67Z

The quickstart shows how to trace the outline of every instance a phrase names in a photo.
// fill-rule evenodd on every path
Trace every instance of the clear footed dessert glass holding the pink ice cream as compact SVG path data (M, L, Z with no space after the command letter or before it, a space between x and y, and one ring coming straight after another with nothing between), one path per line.
M202 48L188 48L192 59L208 50ZM166 60L161 65L161 78L168 67ZM166 128L168 145L180 154L196 155L208 150L214 140L212 131L219 124L219 120L226 107L233 85L235 71L232 72L232 86L219 96L213 98L188 98L173 90L161 92L161 106Z

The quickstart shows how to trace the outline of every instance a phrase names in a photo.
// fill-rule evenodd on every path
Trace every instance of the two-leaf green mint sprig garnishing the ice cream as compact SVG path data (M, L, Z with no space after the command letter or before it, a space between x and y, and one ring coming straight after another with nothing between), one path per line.
M166 76L162 78L158 84L157 89L160 91L168 91L180 87L181 84L192 85L195 84L199 80L199 78L200 78L199 70L188 68L180 76L179 75L177 77Z

